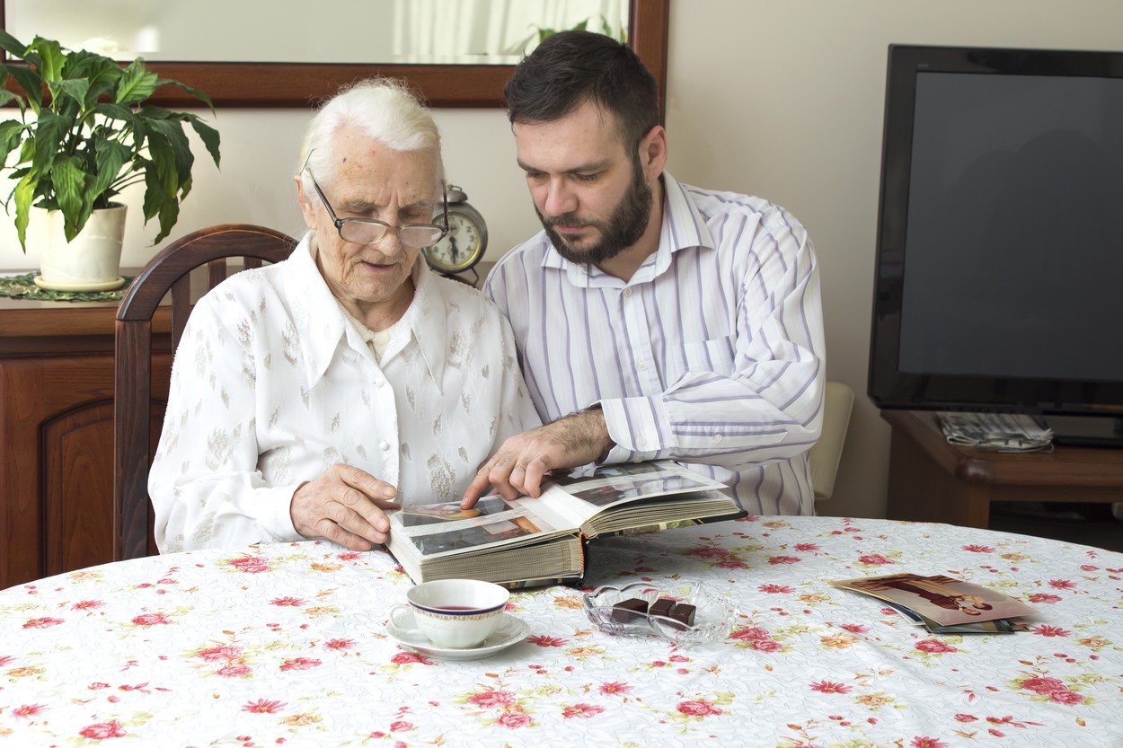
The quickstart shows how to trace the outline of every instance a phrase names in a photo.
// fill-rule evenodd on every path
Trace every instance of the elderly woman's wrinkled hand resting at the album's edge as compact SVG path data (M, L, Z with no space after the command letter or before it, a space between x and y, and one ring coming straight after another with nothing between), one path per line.
M305 538L327 538L351 550L385 542L390 520L385 509L399 509L398 489L366 471L332 465L292 494L292 524Z

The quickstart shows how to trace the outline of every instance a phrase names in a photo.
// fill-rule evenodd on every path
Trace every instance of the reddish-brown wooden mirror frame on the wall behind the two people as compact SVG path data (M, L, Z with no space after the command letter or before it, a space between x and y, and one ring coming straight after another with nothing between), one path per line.
M665 112L667 31L670 0L631 0L629 38L632 48L659 84ZM0 25L3 0L0 0ZM340 85L371 75L411 81L431 107L502 107L503 84L513 65L383 65L350 63L148 62L161 75L206 91L214 107L312 107ZM198 100L164 86L150 101L163 107L199 107Z

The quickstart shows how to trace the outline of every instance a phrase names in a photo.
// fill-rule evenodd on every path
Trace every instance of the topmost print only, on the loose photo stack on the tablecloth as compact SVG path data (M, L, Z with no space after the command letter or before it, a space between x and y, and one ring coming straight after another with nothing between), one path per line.
M1011 619L1038 612L997 590L950 576L889 574L837 580L830 584L896 603L939 626Z

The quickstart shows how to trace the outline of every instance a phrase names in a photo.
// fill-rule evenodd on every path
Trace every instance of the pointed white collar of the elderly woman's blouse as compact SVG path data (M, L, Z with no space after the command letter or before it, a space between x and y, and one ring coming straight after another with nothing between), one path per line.
M336 297L316 265L316 234L309 231L285 261L285 290L293 323L303 348L304 376L309 386L316 384L328 371L340 339L348 347L371 355L369 347L358 330L348 322ZM446 326L444 297L439 280L418 256L412 279L416 292L402 321L417 341L429 376L440 386L445 371ZM295 338L295 336L294 336ZM407 346L409 341L407 341ZM400 349L387 349L384 361L399 355ZM289 355L289 354L286 354Z

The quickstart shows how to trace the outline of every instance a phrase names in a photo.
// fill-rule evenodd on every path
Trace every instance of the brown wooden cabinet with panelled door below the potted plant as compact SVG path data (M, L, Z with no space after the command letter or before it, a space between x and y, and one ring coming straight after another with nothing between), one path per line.
M0 589L112 560L116 311L0 299ZM162 401L170 314L154 327Z

